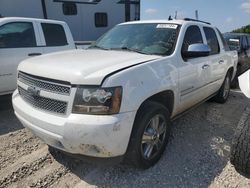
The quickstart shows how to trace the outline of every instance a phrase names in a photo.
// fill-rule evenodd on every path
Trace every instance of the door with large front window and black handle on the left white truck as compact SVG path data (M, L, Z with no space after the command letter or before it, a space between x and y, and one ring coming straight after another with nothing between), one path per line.
M0 26L0 95L16 89L18 64L43 53L40 36L32 21L13 21Z

